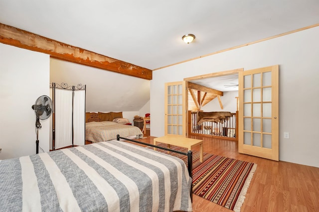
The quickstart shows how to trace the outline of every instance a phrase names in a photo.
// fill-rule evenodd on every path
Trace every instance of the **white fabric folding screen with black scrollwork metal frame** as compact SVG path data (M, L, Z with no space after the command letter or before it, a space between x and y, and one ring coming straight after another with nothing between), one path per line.
M84 145L86 86L68 86L66 83L59 85L53 82L50 88L53 102L50 149Z

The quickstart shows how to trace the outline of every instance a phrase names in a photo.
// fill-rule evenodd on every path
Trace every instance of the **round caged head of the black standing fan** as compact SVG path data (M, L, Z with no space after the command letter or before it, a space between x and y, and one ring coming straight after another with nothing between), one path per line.
M52 114L52 100L46 95L42 95L36 99L32 109L40 120L45 120Z

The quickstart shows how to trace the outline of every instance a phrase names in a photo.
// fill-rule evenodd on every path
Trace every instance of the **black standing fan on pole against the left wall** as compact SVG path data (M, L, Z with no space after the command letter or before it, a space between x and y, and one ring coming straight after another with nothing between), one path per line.
M46 120L52 114L52 100L46 95L42 95L36 99L32 109L35 113L35 128L36 128L36 153L39 153L39 128L41 128L40 120Z

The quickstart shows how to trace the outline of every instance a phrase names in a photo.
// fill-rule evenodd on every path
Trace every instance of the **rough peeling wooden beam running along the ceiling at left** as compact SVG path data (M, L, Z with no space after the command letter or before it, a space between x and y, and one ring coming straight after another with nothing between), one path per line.
M100 55L40 35L0 23L0 43L45 53L51 58L114 71L143 79L152 79L152 70Z

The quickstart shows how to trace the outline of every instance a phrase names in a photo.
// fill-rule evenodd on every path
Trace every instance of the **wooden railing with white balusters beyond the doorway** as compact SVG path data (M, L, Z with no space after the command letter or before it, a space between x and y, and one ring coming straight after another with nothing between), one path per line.
M197 125L197 113L188 111L188 135L238 141L238 111L223 123L204 122L200 125Z

